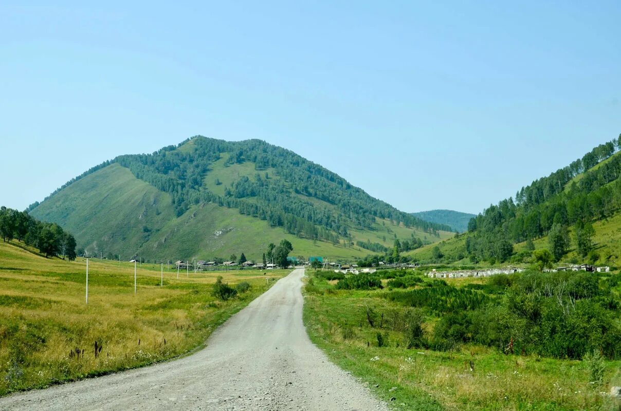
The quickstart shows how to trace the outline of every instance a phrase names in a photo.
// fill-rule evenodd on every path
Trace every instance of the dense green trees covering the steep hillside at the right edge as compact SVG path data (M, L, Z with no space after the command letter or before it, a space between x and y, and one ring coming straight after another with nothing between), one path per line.
M513 243L548 235L550 251L558 261L569 250L568 228L573 227L576 250L587 256L592 250L591 222L611 217L621 208L621 156L614 155L620 149L621 135L522 187L515 201L509 197L473 217L466 253L474 260L505 261L513 253Z

